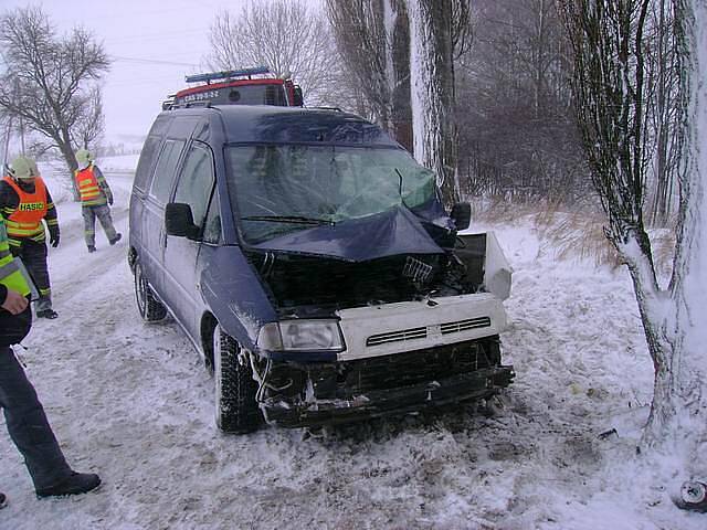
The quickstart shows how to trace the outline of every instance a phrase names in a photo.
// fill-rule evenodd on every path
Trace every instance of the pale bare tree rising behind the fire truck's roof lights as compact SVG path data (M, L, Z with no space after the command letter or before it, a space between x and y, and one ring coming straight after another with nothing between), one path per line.
M341 97L337 51L326 18L302 0L251 0L236 15L215 15L209 34L213 70L265 65L292 74L308 104Z

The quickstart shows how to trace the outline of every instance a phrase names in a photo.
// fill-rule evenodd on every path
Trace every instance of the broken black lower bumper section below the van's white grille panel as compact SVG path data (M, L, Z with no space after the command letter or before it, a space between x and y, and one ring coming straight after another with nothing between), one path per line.
M488 338L341 362L276 362L261 409L270 423L317 426L487 399L508 386Z

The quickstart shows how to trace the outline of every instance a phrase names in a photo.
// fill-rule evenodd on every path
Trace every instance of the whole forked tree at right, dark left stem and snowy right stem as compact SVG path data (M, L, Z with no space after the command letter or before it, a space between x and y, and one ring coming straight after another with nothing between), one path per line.
M644 229L646 153L645 22L651 0L563 0L576 52L578 117L593 183L609 218L605 234L627 265L655 369L654 395L643 445L682 458L682 473L707 475L707 353L703 310L704 197L707 157L707 4L676 0L683 42L682 109L687 136L673 275L661 288ZM703 47L700 50L700 46ZM700 54L701 52L701 54Z

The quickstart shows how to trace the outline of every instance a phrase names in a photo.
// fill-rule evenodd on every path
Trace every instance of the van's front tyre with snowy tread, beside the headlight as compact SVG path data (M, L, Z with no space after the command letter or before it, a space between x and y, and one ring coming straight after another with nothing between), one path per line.
M226 433L246 434L255 431L263 415L255 401L257 383L241 346L220 326L213 330L213 379L215 417Z

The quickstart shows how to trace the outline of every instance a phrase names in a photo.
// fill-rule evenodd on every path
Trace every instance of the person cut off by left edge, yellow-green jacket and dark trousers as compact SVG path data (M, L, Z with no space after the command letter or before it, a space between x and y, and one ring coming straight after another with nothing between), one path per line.
M0 212L0 407L10 438L24 457L38 497L91 491L101 485L93 473L74 471L62 453L32 383L12 346L29 333L31 279L10 252L6 220ZM0 494L0 507L7 502Z

